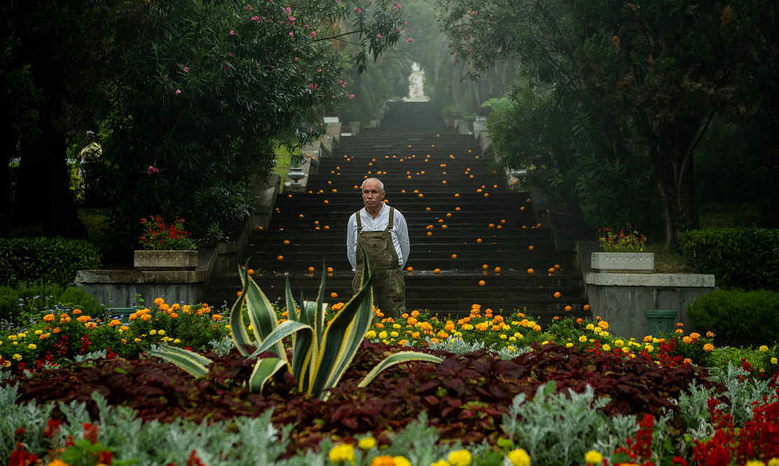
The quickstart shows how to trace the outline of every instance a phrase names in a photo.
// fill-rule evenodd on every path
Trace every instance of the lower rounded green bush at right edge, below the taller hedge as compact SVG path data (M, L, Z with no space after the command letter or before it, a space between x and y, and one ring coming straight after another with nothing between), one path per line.
M779 293L720 289L696 298L687 316L713 331L717 345L771 345L779 338Z

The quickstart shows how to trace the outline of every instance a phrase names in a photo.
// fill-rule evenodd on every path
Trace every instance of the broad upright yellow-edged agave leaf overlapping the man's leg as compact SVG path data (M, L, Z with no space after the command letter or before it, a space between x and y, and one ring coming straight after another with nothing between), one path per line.
M367 266L367 260L365 260ZM365 268L363 269L365 271ZM327 327L319 354L312 365L313 384L308 391L321 398L323 391L335 387L344 371L351 364L373 318L373 272L361 280L361 289L333 317Z

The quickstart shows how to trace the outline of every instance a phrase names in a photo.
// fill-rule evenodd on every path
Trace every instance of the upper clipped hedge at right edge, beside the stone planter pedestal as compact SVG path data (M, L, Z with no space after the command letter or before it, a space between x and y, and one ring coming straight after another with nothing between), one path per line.
M693 270L716 275L721 288L779 290L779 229L701 229L680 245Z

